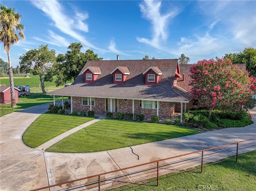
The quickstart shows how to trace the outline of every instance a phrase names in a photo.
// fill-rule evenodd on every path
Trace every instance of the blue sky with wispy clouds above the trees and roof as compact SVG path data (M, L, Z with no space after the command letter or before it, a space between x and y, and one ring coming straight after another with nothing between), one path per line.
M190 64L256 48L256 1L1 0L22 15L25 41L12 45L12 66L48 44L56 55L72 42L104 60L174 59ZM0 45L0 56L8 62Z

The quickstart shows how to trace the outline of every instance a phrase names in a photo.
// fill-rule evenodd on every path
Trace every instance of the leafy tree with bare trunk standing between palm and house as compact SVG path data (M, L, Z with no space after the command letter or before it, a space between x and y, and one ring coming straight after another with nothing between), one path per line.
M21 69L23 71L32 69L37 75L39 75L43 94L46 94L46 91L44 90L43 75L55 60L55 50L49 50L48 45L40 45L38 50L30 50L20 56Z

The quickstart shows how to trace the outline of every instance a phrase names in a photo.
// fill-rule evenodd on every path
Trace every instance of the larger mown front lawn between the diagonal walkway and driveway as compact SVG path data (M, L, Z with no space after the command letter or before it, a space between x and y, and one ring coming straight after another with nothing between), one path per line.
M79 130L46 151L64 153L99 152L197 133L199 132L184 126L106 119L86 127L86 130Z

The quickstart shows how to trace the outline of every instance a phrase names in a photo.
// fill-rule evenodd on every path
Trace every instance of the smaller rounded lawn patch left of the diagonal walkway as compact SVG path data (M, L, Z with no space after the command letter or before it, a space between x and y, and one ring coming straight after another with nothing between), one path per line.
M23 142L36 148L48 140L94 118L61 115L61 114L42 114L39 116L23 134Z

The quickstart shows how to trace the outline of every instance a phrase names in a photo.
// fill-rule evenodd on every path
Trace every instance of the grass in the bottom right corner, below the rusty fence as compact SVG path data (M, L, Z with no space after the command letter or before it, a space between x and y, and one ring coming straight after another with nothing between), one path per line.
M131 185L110 189L110 191L255 191L256 189L256 150L226 158L220 163L204 166L204 170L190 169L179 174L156 178L152 182L133 188Z

